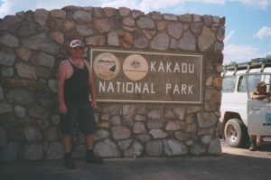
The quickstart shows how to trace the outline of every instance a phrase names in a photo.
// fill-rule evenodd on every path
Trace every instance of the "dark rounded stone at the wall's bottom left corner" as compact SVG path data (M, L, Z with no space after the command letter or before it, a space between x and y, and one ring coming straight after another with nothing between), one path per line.
M10 142L1 152L1 157L5 162L14 162L17 160L20 152L20 145L16 142Z

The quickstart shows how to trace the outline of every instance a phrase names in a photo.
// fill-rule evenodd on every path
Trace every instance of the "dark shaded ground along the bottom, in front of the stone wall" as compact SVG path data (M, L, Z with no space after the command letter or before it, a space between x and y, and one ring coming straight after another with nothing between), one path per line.
M271 156L271 155L269 155ZM222 156L178 156L159 158L105 159L105 165L65 169L61 160L20 162L1 167L3 180L269 180L271 159L223 154Z

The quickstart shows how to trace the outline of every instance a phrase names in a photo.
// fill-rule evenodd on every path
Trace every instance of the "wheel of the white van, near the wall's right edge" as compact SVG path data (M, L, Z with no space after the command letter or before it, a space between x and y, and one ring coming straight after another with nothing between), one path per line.
M229 147L241 147L243 138L246 137L244 123L238 118L231 118L224 128L224 136Z

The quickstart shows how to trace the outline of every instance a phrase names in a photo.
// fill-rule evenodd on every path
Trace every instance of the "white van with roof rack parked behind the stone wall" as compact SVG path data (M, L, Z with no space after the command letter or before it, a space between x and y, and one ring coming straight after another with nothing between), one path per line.
M271 136L271 103L249 98L258 81L271 83L271 59L225 66L222 75L220 122L229 146L248 145L248 135Z

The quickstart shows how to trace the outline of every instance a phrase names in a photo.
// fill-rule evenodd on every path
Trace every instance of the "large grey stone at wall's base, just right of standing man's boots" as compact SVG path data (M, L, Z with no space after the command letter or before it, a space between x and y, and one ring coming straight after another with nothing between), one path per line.
M94 147L94 152L100 157L118 157L120 152L117 145L108 138L104 141L98 142Z

